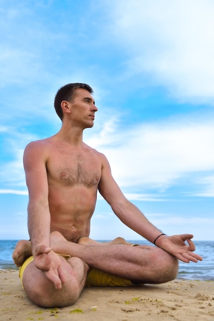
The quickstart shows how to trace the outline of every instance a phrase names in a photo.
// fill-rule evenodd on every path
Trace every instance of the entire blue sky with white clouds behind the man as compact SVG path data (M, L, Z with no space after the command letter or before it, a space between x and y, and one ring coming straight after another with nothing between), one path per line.
M23 151L61 126L53 101L74 82L99 111L84 141L128 199L167 234L213 240L214 3L0 2L0 239L28 238ZM98 196L91 237L141 237Z

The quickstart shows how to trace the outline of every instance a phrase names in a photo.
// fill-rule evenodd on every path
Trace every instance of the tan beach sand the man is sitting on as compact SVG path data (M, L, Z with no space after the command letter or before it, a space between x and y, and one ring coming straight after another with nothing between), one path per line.
M8 320L214 320L214 282L176 279L141 287L85 288L78 302L44 309L30 302L18 271L0 271L0 321Z

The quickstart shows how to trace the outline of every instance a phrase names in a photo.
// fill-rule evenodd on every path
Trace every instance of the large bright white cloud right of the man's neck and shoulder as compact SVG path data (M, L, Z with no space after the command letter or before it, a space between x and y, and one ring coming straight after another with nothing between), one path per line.
M214 119L192 114L133 128L114 127L88 139L89 145L108 157L121 187L141 186L141 191L143 187L165 189L181 178L195 180L197 172L213 171L213 141ZM204 179L198 184L204 189L210 182Z

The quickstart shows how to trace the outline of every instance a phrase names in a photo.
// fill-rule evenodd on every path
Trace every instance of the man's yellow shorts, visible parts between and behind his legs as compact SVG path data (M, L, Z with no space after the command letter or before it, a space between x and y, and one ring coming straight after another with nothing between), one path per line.
M58 254L61 255L61 254ZM66 258L69 258L69 255L61 255ZM19 277L23 286L23 274L26 267L33 261L33 256L29 256L22 266L19 268ZM136 286L131 282L131 280L122 278L113 274L105 273L95 268L90 268L86 282L86 287L130 287Z

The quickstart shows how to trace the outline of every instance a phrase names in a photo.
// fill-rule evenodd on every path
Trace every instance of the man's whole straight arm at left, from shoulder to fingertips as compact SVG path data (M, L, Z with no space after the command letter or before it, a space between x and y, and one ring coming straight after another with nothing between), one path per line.
M24 152L24 168L29 192L28 230L35 266L44 271L56 289L65 282L59 256L50 248L51 215L48 202L47 147L44 142L30 143Z

